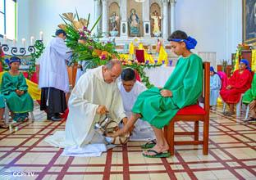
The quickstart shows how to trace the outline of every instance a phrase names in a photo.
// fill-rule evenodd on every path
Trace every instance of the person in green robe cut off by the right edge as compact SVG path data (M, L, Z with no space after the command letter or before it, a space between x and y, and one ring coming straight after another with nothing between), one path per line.
M250 113L252 117L249 117L248 121L256 121L256 75L254 74L254 79L252 83L252 88L249 88L245 92L243 97L243 103L249 106Z

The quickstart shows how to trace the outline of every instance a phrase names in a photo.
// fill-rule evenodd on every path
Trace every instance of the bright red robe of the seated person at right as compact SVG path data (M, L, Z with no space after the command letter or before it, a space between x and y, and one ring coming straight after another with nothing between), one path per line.
M220 92L223 101L231 104L239 102L241 93L245 93L251 88L252 80L253 75L249 70L244 70L242 74L240 74L240 70L235 70L227 83L227 85L231 85L233 88L226 89L226 87L222 87Z

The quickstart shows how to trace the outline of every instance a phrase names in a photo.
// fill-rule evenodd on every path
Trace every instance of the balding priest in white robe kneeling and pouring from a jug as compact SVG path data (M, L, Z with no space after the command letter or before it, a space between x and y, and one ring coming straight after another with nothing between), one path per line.
M57 132L45 141L65 147L62 155L67 156L99 156L111 148L113 145L94 130L94 124L105 119L107 111L112 119L127 120L116 82L121 71L118 60L87 70L71 92L65 132Z

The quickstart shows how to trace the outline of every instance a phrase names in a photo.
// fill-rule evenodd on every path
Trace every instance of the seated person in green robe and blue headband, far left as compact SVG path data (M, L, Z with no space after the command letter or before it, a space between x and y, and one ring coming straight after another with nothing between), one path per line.
M6 60L10 70L2 74L1 93L7 99L7 106L14 113L13 123L24 121L33 111L33 99L27 92L24 75L19 71L21 59L13 56Z

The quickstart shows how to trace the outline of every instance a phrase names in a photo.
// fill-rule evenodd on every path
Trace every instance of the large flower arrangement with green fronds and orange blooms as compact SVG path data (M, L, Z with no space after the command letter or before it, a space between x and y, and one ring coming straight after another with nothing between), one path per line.
M75 17L77 20L75 20ZM72 50L71 61L69 65L80 61L86 61L86 68L94 68L97 65L106 64L107 61L117 57L117 52L111 42L103 43L98 40L98 36L92 34L92 31L101 19L94 23L92 29L89 29L90 14L85 20L77 14L63 13L61 15L65 25L58 25L66 32L66 46ZM81 42L79 40L82 40Z

